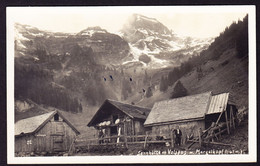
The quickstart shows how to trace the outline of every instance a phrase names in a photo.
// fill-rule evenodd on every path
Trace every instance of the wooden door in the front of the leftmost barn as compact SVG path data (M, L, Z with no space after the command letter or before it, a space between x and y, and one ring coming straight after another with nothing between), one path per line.
M53 151L64 151L64 126L63 122L55 122L55 134L53 134Z

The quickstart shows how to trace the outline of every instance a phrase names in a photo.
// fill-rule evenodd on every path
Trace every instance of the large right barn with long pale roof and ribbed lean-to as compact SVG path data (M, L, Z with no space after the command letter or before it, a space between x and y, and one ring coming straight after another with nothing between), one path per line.
M156 102L144 126L154 135L168 137L172 130L179 127L182 131L182 143L185 143L186 138L198 136L200 128L207 129L219 117L220 122L225 121L221 112L227 111L229 117L230 110L234 114L237 112L235 105L229 103L229 93L212 95L211 92L206 92Z

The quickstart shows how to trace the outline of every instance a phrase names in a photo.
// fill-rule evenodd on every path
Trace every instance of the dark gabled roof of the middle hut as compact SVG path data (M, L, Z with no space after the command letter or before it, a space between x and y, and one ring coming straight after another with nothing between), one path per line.
M121 103L118 101L114 101L111 99L107 99L102 105L101 107L98 109L98 111L96 112L96 114L93 116L93 118L90 120L90 122L88 123L88 126L92 126L93 122L95 121L95 119L98 117L99 112L107 105L107 104L111 104L114 107L116 107L119 111L122 111L124 114L128 115L129 117L131 117L132 119L143 119L145 120L148 116L148 114L150 113L151 109L149 108L144 108L144 107L140 107L140 106L135 106L135 105L131 105L131 104L126 104L126 103Z

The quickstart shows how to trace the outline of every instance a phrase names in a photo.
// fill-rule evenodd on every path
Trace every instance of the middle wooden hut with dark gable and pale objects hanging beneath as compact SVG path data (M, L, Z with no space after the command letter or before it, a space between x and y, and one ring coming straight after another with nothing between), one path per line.
M144 121L150 109L107 99L87 126L105 136L145 134ZM98 135L98 134L97 134Z

